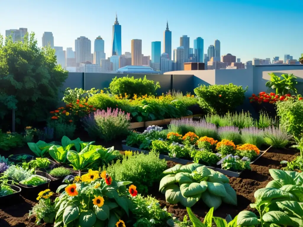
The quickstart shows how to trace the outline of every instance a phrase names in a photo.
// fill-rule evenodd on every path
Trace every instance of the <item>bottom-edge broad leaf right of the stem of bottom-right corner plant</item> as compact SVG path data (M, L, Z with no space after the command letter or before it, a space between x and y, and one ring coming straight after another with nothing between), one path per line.
M263 221L277 225L299 226L298 222L294 222L287 214L281 211L269 211L262 217Z

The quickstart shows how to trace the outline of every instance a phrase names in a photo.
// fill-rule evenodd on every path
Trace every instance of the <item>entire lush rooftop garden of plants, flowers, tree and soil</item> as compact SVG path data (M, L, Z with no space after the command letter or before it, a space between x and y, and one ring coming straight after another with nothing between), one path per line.
M1 226L303 226L295 75L258 94L127 76L58 100L67 75L33 34L0 46Z

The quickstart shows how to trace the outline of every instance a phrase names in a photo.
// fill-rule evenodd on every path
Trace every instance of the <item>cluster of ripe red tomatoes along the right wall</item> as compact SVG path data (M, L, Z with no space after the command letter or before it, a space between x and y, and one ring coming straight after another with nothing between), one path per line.
M298 98L298 100L302 100L303 98L291 96L291 94L285 94L285 95L278 95L273 92L266 93L265 91L262 91L259 93L259 95L252 94L251 97L249 97L249 102L258 102L261 104L262 102L274 104L278 101L287 101L289 98Z

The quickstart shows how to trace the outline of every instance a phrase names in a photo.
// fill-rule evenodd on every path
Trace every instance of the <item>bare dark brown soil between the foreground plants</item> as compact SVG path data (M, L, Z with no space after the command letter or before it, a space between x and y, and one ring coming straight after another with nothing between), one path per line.
M118 146L115 146L117 149ZM9 152L10 154L28 153L28 149L18 149L16 152ZM255 201L254 193L257 189L264 188L266 184L272 180L269 175L269 169L281 169L280 161L291 161L295 158L296 151L292 149L276 150L271 148L253 165L251 171L244 171L240 177L229 177L231 186L235 189L238 196L238 206L231 206L225 203L215 210L214 215L226 218L230 214L233 218L242 210L251 210L249 204ZM2 155L8 156L8 153ZM168 161L168 168L175 166L176 163ZM162 208L166 207L167 211L172 213L179 220L183 220L184 215L187 214L186 208L181 205L171 205L165 201L165 196L158 192L158 185L149 190L152 196L155 196ZM28 217L28 211L35 205L35 200L28 200L21 197L18 204L9 206L9 204L0 204L0 226L16 226L16 227L34 227L35 217ZM197 215L200 220L203 220L209 208L199 201L192 207L192 211ZM50 224L42 224L40 226L52 226Z

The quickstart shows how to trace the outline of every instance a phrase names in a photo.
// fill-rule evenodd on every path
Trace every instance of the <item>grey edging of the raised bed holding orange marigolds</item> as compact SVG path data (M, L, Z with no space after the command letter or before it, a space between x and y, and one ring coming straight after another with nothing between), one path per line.
M271 148L271 146L269 148ZM250 164L257 161L262 155L264 155L269 150L269 148L265 151L260 151L260 155L254 161L252 161ZM148 150L141 150L139 148L127 146L125 144L122 144L122 149L123 150L130 150L130 151L138 151L138 152L140 152L140 153L142 152L144 154L149 153ZM180 163L182 165L186 165L187 163L192 163L193 162L192 160L186 160L186 159L181 159L181 158L171 158L168 155L163 155L163 154L160 154L159 158L160 159L165 159L166 161L173 161L175 163ZM216 168L216 167L212 167L212 166L206 166L206 167L209 168L209 169L213 169L215 171L218 171L219 173L223 173L224 175L230 176L230 177L239 177L242 173L242 171L241 172L234 172L234 171L230 171L230 170L226 170L226 169L220 169L220 168Z

